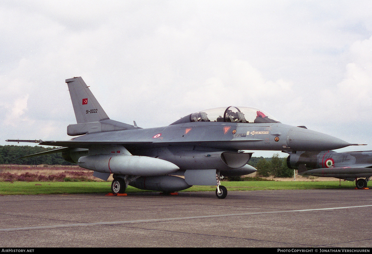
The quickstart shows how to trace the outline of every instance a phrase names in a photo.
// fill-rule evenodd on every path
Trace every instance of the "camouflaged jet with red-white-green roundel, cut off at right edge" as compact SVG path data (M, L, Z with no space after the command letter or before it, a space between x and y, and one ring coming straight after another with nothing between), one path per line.
M358 189L367 188L367 182L372 176L372 151L296 152L289 154L287 157L288 167L298 169L299 175L356 180L355 185ZM360 179L357 180L357 178Z

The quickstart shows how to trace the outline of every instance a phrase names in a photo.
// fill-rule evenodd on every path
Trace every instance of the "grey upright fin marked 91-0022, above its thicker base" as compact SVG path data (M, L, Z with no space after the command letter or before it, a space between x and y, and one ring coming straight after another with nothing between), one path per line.
M77 123L109 119L81 77L66 79Z

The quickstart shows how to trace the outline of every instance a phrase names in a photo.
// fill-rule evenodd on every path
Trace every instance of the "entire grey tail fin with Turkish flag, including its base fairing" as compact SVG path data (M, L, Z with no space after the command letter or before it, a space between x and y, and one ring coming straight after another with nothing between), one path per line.
M77 124L67 126L67 134L78 136L104 131L130 130L140 127L111 120L81 77L66 79Z

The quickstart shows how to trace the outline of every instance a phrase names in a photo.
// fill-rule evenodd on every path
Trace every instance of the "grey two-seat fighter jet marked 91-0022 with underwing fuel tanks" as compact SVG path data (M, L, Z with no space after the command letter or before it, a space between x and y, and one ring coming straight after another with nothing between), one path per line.
M280 123L251 107L221 107L198 111L158 128L140 128L111 120L81 77L66 79L77 124L66 141L7 140L61 146L37 156L62 152L69 162L107 180L112 192L128 185L139 189L177 192L192 185L215 185L218 198L227 190L224 176L248 175L252 153L243 150L322 151L350 144L335 137ZM27 157L28 157L27 156Z

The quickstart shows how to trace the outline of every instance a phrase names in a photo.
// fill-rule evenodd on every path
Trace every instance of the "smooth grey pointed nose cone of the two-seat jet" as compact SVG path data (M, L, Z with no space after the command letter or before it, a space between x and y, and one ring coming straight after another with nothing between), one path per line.
M288 131L287 146L296 151L326 151L351 145L336 137L305 128L295 127Z

